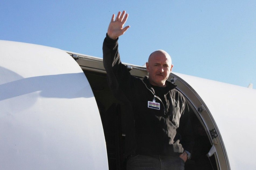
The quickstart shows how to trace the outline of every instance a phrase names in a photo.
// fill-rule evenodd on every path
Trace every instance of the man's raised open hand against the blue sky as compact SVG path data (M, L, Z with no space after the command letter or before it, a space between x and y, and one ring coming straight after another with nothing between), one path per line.
M119 11L117 14L117 18L115 18L115 15L112 15L109 28L107 29L107 35L111 39L117 39L120 35L123 35L130 26L126 26L123 28L123 26L126 23L126 20L128 18L128 14L125 14L125 11L121 12Z

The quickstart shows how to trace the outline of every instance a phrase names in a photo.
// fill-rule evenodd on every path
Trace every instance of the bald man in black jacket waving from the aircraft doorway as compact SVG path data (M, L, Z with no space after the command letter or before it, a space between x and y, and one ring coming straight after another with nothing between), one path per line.
M192 128L184 96L166 81L173 65L170 55L158 50L149 56L143 80L130 75L120 61L118 37L128 14L112 16L103 43L103 63L109 86L127 107L127 170L182 170L191 157Z

